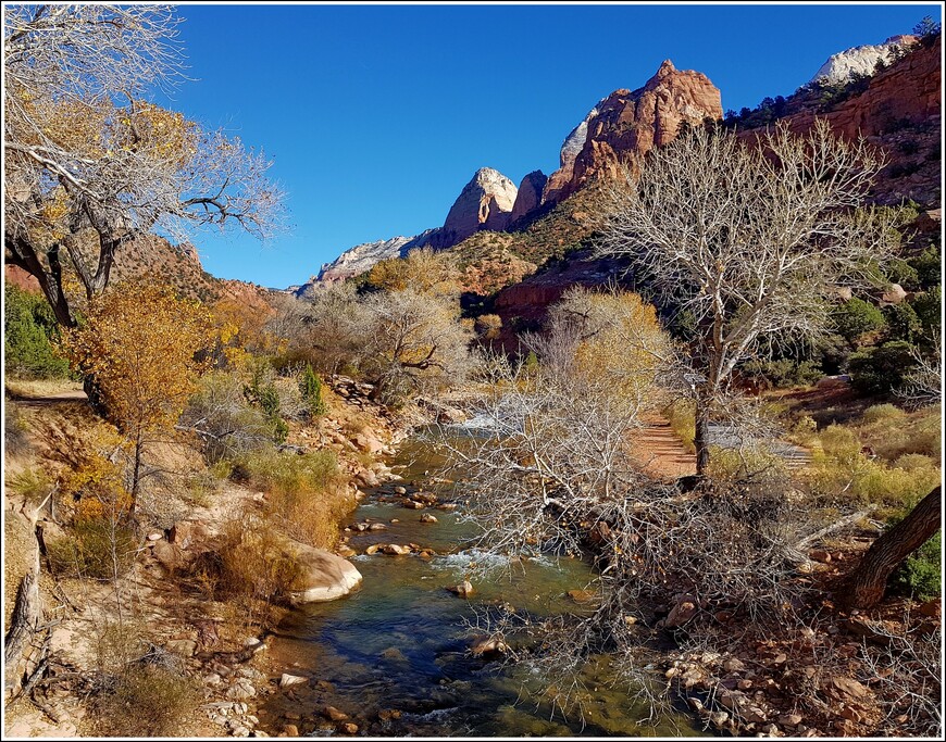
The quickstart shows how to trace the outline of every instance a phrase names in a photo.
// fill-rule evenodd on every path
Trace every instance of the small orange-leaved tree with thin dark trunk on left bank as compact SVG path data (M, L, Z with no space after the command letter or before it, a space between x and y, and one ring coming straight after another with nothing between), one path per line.
M95 379L109 418L133 447L133 508L144 450L173 429L194 392L210 326L207 310L170 288L126 284L92 300L87 322L65 334L66 356Z

